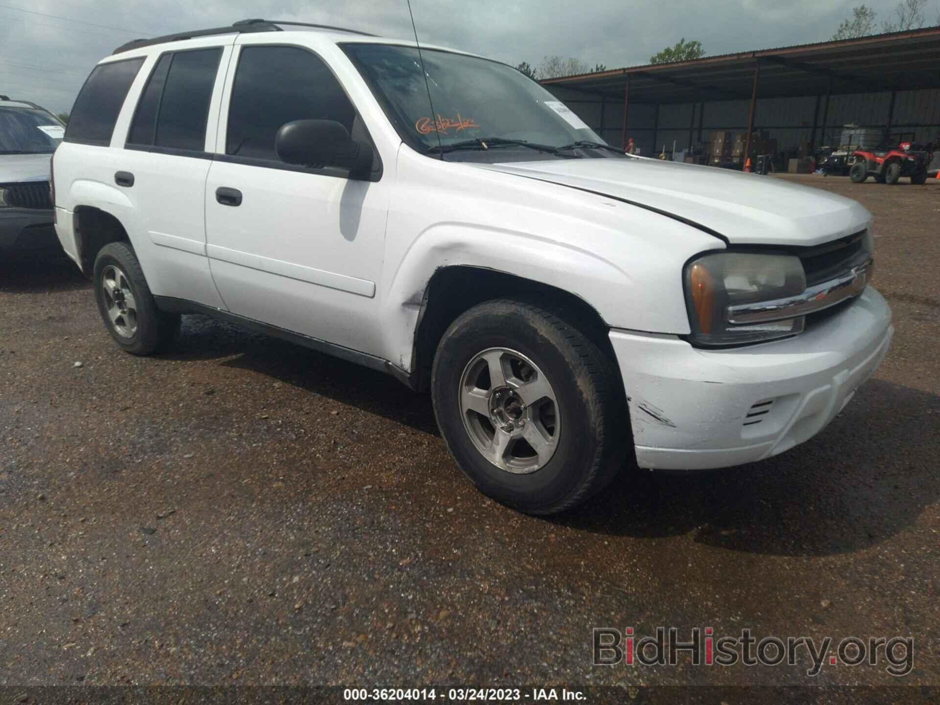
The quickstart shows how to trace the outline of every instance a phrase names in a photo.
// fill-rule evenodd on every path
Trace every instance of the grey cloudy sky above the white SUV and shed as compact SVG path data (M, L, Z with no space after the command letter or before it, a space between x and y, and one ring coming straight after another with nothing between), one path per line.
M867 0L889 19L898 0ZM708 54L828 39L858 0L412 0L418 37L537 65L571 55L608 68L645 63L684 37ZM933 7L936 5L937 7ZM928 24L940 0L932 0ZM0 93L71 109L88 71L128 39L247 17L337 24L410 38L405 0L0 0Z

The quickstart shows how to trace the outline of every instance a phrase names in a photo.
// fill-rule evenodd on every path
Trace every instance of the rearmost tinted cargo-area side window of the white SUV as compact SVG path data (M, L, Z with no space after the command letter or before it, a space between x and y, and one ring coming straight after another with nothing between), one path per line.
M127 98L143 57L99 64L75 99L66 129L66 142L86 145L111 143L121 105Z

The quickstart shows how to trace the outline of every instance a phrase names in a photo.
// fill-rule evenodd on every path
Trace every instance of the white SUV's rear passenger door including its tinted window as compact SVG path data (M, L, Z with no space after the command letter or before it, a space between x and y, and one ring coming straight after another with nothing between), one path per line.
M187 42L152 57L115 180L143 230L135 246L146 249L140 259L150 290L224 308L206 256L203 203L231 54L230 44L218 41Z

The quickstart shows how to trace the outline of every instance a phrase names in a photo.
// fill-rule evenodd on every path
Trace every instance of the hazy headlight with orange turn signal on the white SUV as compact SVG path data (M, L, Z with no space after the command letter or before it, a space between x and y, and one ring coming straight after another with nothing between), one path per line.
M732 305L774 301L803 293L803 264L790 255L716 252L685 265L686 305L692 339L699 345L740 345L803 332L803 316L735 325Z

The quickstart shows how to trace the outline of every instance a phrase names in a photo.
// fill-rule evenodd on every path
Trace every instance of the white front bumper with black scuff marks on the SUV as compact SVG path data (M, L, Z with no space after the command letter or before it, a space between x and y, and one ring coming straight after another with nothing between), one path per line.
M613 330L640 467L759 461L814 436L885 359L891 309L869 287L800 336L731 350Z

